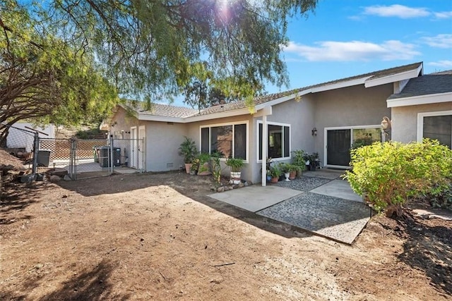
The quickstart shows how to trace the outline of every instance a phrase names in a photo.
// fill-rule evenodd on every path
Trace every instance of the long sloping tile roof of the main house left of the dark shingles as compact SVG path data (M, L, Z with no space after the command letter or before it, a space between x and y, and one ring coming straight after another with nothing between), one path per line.
M316 85L310 85L307 87L300 87L294 90L289 90L285 92L278 92L273 94L267 94L263 96L256 97L254 99L254 104L264 104L266 102L270 102L275 99L279 99L281 97L285 97L291 94L295 94L297 92L302 92L304 90L309 90L311 88L315 87L322 87L326 85L332 85L337 84L340 82L347 82L350 80L356 80L359 78L368 78L368 79L376 79L376 78L383 78L385 76L394 75L397 73L402 73L405 71L410 71L415 68L418 68L419 66L422 66L422 62L419 63L411 63L409 65L405 66L398 66L394 68L388 68L384 70L379 70L371 73L364 73L361 75L355 75L349 78L341 78L340 80L332 80L329 82L322 82L320 84ZM232 102L229 104L221 104L216 106L210 106L209 108L202 109L201 111L198 111L196 109L190 109L183 106L171 106L167 104L152 104L152 107L150 110L145 110L144 104L141 103L138 107L138 109L135 109L138 113L143 115L149 115L149 116L162 116L162 117L173 117L173 118L187 118L192 116L205 116L211 113L220 113L223 111L232 111L236 109L245 109L246 103L244 101L239 102Z

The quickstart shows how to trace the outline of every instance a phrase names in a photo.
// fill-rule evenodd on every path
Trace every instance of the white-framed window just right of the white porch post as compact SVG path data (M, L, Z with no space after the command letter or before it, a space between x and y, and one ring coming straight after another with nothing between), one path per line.
M258 159L262 160L262 122L258 121ZM272 159L290 158L290 125L267 123L267 156Z

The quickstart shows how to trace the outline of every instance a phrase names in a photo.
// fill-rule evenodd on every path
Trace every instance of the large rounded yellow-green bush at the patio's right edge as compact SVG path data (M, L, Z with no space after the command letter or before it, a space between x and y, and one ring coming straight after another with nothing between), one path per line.
M451 189L452 150L439 142L376 142L351 151L352 189L387 216L402 214L412 197L441 195Z

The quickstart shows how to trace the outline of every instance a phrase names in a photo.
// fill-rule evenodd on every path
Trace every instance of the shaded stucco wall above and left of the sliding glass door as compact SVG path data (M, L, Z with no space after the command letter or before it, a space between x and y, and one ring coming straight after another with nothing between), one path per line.
M366 88L364 85L319 92L313 95L315 152L319 152L322 162L326 151L325 128L379 125L383 116L391 118L391 109L386 99L393 93L393 85Z

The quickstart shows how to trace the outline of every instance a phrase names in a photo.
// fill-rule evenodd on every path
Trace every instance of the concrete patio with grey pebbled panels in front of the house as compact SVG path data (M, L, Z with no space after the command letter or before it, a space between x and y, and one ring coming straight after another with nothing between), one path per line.
M352 244L371 210L342 180L342 171L306 172L289 182L252 185L209 195L269 219L302 228L338 242Z

